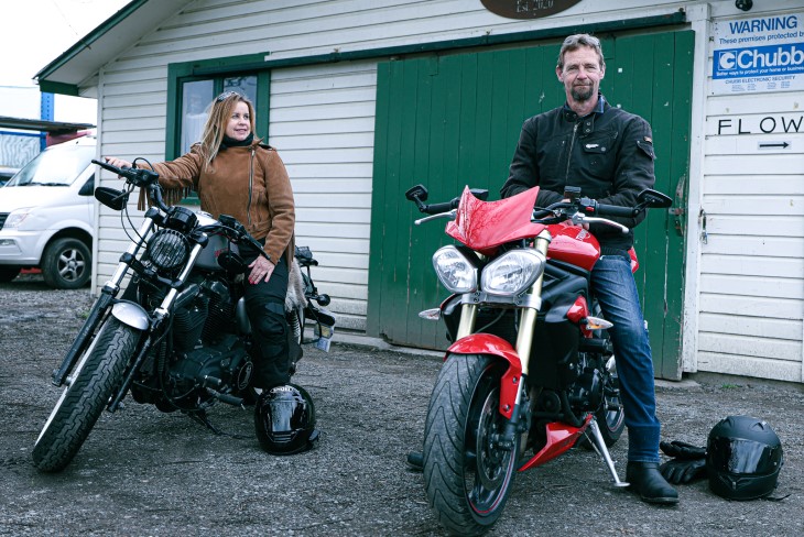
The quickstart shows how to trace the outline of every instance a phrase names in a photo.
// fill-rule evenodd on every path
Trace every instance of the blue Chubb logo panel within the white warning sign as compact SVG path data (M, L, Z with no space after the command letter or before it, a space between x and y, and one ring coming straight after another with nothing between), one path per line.
M791 43L715 52L715 78L804 73L804 46Z

